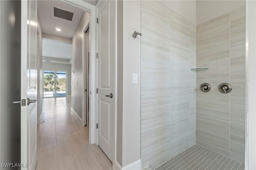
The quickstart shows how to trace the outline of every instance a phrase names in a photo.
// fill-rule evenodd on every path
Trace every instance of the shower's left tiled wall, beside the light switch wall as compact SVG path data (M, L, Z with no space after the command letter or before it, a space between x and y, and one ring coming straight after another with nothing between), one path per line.
M196 26L142 1L141 31L141 161L154 169L196 143Z

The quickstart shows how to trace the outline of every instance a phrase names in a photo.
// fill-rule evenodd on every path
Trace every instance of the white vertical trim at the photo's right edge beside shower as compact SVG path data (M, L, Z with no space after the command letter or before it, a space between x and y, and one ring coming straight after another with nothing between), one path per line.
M246 0L245 170L256 169L256 1Z

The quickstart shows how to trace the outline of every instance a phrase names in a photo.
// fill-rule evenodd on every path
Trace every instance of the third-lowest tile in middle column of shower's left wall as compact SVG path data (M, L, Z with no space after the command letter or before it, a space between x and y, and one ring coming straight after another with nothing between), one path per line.
M170 122L188 118L189 102L174 103L170 105Z

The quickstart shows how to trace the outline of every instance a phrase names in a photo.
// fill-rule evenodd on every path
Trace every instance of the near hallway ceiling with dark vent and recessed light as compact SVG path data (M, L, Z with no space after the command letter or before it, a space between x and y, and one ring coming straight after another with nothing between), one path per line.
M74 16L72 21L53 16L53 7L73 12ZM43 33L72 38L82 14L83 11L81 11L79 8L64 2L56 0L38 1L38 15ZM56 31L56 28L60 28L61 31Z

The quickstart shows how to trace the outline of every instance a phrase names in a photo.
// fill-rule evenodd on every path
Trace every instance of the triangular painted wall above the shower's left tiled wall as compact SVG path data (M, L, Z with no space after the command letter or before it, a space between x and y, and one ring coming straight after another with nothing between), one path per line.
M196 25L196 0L158 0L158 2Z

